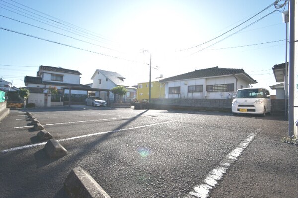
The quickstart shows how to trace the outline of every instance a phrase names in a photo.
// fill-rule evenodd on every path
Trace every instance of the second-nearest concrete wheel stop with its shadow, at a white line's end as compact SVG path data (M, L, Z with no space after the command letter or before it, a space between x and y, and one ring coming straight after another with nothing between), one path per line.
M60 158L67 155L67 150L56 140L50 139L45 145L45 151L50 158Z

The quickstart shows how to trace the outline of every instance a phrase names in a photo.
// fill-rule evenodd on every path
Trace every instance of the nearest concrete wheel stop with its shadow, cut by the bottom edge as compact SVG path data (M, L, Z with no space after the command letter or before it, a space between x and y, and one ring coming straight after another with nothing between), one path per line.
M67 176L64 190L70 198L111 198L81 167L74 168Z

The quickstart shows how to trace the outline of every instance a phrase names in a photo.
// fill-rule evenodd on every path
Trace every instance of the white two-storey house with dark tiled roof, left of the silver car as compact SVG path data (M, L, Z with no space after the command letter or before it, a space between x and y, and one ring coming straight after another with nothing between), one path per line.
M51 92L49 88L54 87L57 88L61 95L71 92L71 94L75 94L74 97L87 98L88 91L84 89L89 87L80 84L80 75L81 73L75 70L52 66L39 66L36 77L25 77L25 85L30 91L28 103L35 103L36 107L62 105L61 97L58 101L56 99L56 102L51 102Z

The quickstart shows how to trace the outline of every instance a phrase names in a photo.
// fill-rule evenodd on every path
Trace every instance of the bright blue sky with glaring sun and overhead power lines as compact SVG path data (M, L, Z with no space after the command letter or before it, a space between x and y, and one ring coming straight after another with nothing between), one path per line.
M275 82L286 59L286 24L274 0L0 0L0 78L24 87L40 65L96 69L126 85L210 67ZM282 4L282 0L279 4ZM289 54L289 53L288 53Z

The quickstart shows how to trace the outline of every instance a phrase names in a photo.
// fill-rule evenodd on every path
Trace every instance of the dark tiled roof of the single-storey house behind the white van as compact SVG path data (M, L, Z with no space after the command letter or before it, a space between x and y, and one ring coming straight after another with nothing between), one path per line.
M244 74L250 80L255 81L251 78L243 69L229 69L229 68L219 68L219 67L212 67L207 69L195 70L189 73L184 73L181 75L176 75L173 77L165 78L160 80L161 82L168 82L168 81L177 81L177 80L186 80L186 79L195 79L195 78L205 78L205 77L213 77L213 76L224 76L224 75L234 75L234 74Z

